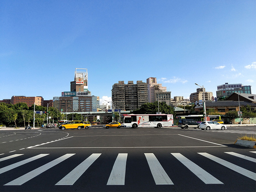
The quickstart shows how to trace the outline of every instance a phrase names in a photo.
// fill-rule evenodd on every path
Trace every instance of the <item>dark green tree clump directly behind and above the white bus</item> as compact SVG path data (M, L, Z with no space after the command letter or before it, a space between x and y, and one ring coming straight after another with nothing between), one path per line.
M166 105L164 102L159 102L159 112L162 114L173 114L175 116L174 109ZM158 102L155 101L154 103L144 103L141 107L137 110L132 111L133 114L156 114L158 113Z

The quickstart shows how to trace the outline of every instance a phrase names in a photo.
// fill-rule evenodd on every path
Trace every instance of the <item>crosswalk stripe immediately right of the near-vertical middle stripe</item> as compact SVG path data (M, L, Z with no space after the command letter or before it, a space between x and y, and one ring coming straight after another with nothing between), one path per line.
M173 185L164 168L153 153L144 153L156 185Z

